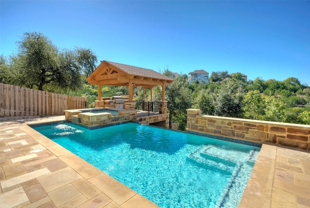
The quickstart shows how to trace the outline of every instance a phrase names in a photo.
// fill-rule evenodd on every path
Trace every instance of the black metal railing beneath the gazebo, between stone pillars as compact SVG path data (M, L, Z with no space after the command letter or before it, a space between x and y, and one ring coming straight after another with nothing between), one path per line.
M158 101L137 101L136 102L137 116L150 116L159 114Z

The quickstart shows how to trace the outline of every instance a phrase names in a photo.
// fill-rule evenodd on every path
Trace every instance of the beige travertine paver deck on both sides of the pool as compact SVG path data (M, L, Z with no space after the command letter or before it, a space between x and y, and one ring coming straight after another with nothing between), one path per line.
M0 122L0 208L157 207L27 125L57 120ZM263 144L239 204L253 207L310 208L310 152Z

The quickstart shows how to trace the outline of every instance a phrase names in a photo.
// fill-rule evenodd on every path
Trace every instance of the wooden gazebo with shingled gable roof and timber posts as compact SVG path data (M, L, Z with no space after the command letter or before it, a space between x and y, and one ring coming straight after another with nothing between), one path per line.
M98 100L101 100L101 85L127 86L129 88L129 102L132 102L134 87L141 86L152 89L154 86L162 86L162 101L165 100L165 86L169 86L174 79L151 69L115 63L103 60L100 65L87 78L89 84L98 85ZM144 93L143 93L144 94Z

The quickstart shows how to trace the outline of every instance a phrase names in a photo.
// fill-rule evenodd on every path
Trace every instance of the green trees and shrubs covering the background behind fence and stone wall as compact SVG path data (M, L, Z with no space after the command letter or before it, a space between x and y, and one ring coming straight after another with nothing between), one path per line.
M54 93L87 97L94 107L98 88L86 78L96 67L92 50L75 47L59 49L43 33L25 33L17 42L18 53L0 55L0 82ZM170 75L165 69L163 74ZM166 87L170 124L186 129L186 109L199 108L205 115L258 119L310 125L310 88L297 78L246 81L241 73L212 72L210 83L189 84L183 74ZM161 86L153 89L153 101L161 100ZM145 100L150 99L145 91ZM101 96L128 95L127 87L102 86ZM143 99L143 89L134 89ZM170 125L171 126L171 125Z

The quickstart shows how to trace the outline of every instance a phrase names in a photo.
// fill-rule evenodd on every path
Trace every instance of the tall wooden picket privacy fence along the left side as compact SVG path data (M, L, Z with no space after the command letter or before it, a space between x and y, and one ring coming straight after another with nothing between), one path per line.
M58 116L87 108L87 98L0 83L0 116Z

